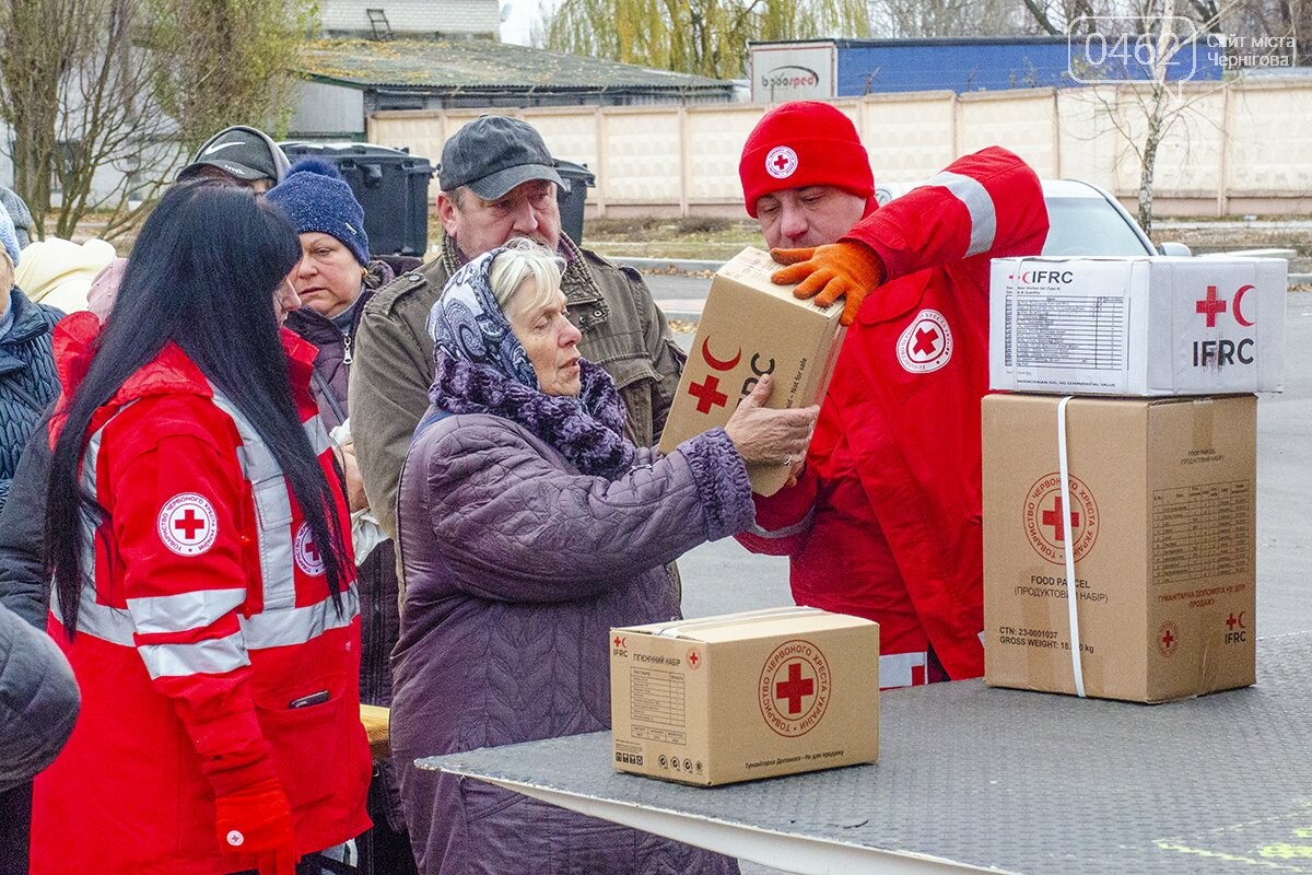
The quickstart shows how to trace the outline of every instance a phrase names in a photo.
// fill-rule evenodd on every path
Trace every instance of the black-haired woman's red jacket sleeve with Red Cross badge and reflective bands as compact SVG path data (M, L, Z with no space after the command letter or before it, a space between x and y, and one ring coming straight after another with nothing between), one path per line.
M173 422L114 474L123 597L152 683L172 699L215 795L276 778L239 623L248 576L235 453Z

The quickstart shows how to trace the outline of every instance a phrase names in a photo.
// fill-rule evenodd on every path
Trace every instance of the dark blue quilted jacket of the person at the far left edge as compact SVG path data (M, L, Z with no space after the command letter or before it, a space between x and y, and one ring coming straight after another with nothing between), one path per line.
M0 508L28 437L59 395L50 346L51 329L63 319L54 307L35 304L14 286L9 291L13 325L0 337Z

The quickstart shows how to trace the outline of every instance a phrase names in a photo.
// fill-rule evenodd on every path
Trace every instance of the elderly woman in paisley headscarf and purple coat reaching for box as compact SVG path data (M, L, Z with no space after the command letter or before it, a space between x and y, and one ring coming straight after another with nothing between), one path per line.
M579 356L562 264L531 244L457 272L433 307L437 375L401 474L405 572L392 749L426 875L736 872L732 859L569 813L416 757L610 725L611 626L680 615L665 563L753 521L747 462L800 458L816 408L762 408L666 457L625 438Z

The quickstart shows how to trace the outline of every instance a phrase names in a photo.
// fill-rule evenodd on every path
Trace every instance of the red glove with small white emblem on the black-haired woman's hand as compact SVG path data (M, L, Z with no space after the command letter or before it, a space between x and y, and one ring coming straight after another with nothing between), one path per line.
M219 844L237 854L256 858L260 875L295 875L297 837L291 829L291 805L277 778L214 800Z

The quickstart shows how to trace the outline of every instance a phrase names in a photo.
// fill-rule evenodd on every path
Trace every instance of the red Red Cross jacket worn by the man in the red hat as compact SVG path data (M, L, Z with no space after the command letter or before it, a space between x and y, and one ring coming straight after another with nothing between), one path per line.
M845 237L887 282L848 332L796 487L757 496L739 540L791 556L798 603L880 623L880 686L984 673L980 399L989 258L1036 254L1038 177L987 148L875 210Z

